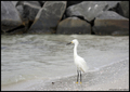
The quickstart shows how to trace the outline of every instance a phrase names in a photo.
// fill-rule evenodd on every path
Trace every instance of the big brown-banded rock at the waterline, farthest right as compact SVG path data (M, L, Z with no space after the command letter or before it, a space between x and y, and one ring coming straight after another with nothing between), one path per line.
M95 18L92 31L95 35L129 35L129 19L116 12L105 11Z

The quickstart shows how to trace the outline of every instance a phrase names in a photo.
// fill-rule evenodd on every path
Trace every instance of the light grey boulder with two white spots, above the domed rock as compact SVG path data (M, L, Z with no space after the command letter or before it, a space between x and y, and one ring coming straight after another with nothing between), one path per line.
M83 16L88 22L93 21L103 11L115 6L118 2L114 1L82 1L78 4L70 5L66 10L67 16Z

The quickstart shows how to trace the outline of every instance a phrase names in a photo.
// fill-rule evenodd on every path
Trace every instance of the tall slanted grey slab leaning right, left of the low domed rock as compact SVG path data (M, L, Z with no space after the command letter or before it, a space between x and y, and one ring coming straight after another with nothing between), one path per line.
M38 12L28 34L52 34L66 9L66 1L47 1Z

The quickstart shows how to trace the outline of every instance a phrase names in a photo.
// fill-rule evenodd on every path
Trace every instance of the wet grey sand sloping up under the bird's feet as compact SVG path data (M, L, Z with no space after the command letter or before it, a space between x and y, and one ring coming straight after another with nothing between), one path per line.
M128 91L129 61L121 61L100 70L82 74L82 83L76 83L76 76L35 84L26 90L38 91Z

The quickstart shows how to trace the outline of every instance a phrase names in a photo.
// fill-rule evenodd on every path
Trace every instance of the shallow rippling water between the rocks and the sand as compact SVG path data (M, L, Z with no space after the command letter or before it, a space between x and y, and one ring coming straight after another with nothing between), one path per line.
M89 71L129 60L129 37L91 35L1 35L1 86L51 80L76 75L73 39Z

